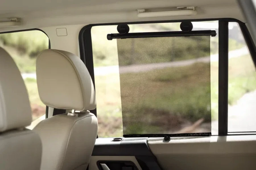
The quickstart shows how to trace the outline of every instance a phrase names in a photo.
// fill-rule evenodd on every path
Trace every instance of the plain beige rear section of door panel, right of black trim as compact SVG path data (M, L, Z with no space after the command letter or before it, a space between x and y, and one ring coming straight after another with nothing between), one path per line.
M149 138L148 146L162 169L241 170L256 168L256 136Z

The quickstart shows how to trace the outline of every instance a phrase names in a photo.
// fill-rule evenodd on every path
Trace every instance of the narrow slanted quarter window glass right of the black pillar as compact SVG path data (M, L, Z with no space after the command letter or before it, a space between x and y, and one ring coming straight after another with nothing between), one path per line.
M228 132L256 131L256 72L240 27L230 22L228 61Z

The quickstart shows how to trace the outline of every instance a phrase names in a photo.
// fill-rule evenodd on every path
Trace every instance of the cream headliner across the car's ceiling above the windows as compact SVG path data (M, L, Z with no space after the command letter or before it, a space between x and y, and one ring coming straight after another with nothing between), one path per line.
M136 9L196 6L196 16L138 18ZM163 9L162 9L163 10ZM0 31L74 24L235 18L245 22L236 0L2 0L0 19L22 19L19 27Z

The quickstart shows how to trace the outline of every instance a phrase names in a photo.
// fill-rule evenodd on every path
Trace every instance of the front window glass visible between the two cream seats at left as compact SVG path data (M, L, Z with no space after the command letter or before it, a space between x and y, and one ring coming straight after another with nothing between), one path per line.
M49 47L49 39L39 30L0 34L0 46L14 59L18 66L30 99L33 121L43 116L46 106L38 95L36 84L36 56Z

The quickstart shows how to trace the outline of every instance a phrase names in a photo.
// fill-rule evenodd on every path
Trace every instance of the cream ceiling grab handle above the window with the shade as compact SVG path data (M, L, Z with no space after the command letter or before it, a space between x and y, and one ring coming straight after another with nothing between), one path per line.
M138 9L139 18L150 18L150 17L163 17L163 16L185 16L185 15L196 15L197 11L195 7L177 7L176 10L171 11L158 11L158 12L145 12L145 9Z

